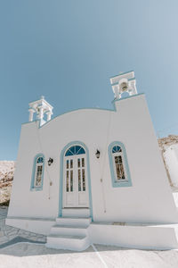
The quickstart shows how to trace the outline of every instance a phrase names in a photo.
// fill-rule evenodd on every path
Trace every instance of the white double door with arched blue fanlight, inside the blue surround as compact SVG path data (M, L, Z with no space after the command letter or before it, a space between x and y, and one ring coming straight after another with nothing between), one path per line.
M63 155L63 207L89 207L85 148L73 145Z

